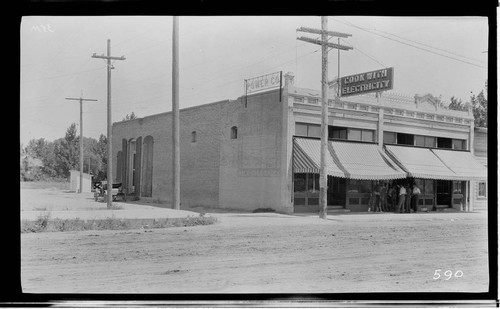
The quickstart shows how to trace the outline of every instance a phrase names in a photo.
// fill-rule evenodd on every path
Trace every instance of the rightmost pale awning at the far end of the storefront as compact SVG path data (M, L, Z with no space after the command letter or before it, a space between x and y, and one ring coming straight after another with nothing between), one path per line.
M461 180L486 180L488 170L470 152L444 149L431 151Z

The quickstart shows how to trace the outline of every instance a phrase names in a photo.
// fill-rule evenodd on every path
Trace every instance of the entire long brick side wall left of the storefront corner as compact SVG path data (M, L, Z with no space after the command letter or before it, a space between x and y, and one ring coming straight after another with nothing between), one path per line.
M202 205L291 212L286 102L285 98L280 102L275 90L180 111L181 208ZM236 139L231 137L232 127L237 127ZM192 132L196 132L196 142L192 142ZM113 125L115 177L122 139L142 136L144 140L147 135L154 139L152 198L170 203L170 113Z

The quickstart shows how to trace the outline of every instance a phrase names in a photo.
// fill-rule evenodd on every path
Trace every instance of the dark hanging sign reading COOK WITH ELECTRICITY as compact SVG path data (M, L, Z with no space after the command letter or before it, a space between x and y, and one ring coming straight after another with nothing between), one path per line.
M340 96L390 90L394 82L394 68L344 76L340 79Z

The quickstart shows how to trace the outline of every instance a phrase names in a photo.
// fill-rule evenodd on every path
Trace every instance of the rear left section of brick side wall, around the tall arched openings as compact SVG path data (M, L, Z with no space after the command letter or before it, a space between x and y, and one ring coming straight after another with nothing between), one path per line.
M181 207L218 205L220 161L220 111L227 101L181 110L180 188ZM151 135L153 144L152 198L171 202L172 191L172 118L163 113L113 124L113 173L122 139ZM196 142L192 142L192 132ZM144 164L143 164L144 166ZM144 175L144 171L142 173ZM142 177L144 181L144 177Z

